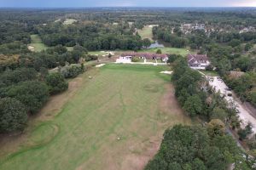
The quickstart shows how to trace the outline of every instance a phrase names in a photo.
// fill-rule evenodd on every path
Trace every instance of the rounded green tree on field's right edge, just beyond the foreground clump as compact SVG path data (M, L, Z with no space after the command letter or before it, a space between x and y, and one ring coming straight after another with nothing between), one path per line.
M202 111L203 105L198 95L189 96L183 105L183 109L188 113L189 116L196 116Z

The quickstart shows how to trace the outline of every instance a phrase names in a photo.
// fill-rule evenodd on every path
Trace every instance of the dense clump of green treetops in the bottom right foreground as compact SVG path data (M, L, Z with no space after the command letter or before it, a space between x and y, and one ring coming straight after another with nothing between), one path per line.
M176 125L166 129L160 150L146 170L215 170L244 162L241 150L229 135L210 136L206 127Z

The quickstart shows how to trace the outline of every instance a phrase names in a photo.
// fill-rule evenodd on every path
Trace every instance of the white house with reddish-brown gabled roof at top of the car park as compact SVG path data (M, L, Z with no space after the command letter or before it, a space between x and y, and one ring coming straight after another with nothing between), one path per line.
M207 65L210 65L207 54L189 54L187 59L189 67L192 69L206 70Z

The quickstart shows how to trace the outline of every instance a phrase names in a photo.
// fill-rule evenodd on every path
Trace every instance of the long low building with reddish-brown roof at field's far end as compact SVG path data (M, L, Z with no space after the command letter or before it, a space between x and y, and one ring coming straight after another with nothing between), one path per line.
M131 63L131 59L134 57L138 57L139 59L160 59L163 62L167 62L168 55L167 54L151 54L151 53L125 53L119 56L119 59L116 59L117 63Z

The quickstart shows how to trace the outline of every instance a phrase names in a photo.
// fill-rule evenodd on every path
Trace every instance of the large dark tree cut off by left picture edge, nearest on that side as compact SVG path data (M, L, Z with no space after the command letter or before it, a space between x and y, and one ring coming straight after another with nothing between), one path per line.
M13 98L0 99L0 132L10 133L26 127L26 108Z

